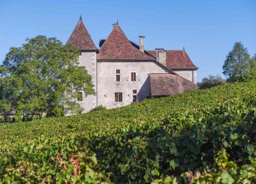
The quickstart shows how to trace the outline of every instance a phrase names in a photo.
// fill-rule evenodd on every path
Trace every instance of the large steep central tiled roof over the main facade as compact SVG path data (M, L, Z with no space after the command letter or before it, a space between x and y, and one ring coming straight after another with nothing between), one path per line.
M154 60L154 58L132 46L123 30L116 25L102 44L98 60Z

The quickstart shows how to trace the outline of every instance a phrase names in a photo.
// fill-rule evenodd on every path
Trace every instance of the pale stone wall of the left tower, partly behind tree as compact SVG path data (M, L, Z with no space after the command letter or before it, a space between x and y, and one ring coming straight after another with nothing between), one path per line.
M94 90L96 92L97 89L97 54L96 52L82 52L79 56L79 65L85 66L88 71L88 74L91 75L94 85ZM87 97L84 94L83 101L78 102L84 112L90 111L92 108L97 105L97 96L96 95L88 95Z

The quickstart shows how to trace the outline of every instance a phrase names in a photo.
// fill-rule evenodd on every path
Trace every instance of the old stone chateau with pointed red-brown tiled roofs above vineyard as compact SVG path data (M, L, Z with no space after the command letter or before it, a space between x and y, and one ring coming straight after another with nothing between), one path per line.
M93 79L96 95L79 92L77 100L85 112L98 105L121 107L196 88L198 68L184 49L146 51L144 37L139 37L137 45L118 24L106 40L99 41L98 49L80 18L67 43L80 49L79 65L85 66Z

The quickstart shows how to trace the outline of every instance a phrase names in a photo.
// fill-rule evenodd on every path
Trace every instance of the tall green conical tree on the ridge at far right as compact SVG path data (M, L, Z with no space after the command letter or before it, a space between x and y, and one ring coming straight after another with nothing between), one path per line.
M223 65L223 74L228 82L244 82L251 80L250 55L241 42L236 42L232 51L226 57Z

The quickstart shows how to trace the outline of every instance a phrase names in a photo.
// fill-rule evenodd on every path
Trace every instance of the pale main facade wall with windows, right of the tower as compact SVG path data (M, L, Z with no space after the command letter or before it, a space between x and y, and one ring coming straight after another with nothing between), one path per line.
M121 82L115 82L116 69L120 69ZM131 82L130 73L136 73L136 82ZM155 62L99 62L97 63L98 105L107 108L121 107L132 103L132 90L137 90L137 100L149 96L150 73L168 73ZM115 102L115 93L123 93L123 102Z

